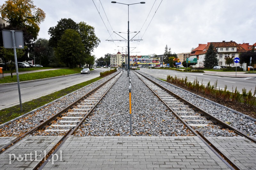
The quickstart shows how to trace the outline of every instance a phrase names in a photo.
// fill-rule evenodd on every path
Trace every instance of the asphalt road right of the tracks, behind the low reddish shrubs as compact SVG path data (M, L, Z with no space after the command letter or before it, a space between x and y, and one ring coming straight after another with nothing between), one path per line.
M178 72L174 70L162 70L162 69L146 69L142 68L140 71L150 74L154 77L165 79L167 75L178 76L180 78L188 78L188 81L194 81L197 79L199 83L205 85L210 81L211 85L217 82L217 88L224 89L227 85L227 90L232 92L232 87L235 91L237 90L241 93L242 89L245 88L246 92L252 89L252 94L256 86L256 74L244 74L244 72L211 72L205 71L205 73L188 73L188 72Z

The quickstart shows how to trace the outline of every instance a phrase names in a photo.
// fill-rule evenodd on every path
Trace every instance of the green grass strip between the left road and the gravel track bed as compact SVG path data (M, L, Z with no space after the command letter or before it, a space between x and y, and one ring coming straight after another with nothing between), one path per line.
M15 117L19 117L20 115L23 115L31 110L34 110L40 106L43 106L44 104L50 103L62 96L65 96L73 91L76 91L78 89L81 89L84 86L87 86L88 84L91 84L95 81L98 81L102 78L97 77L89 81L85 81L79 84L76 84L74 86L68 87L66 89L62 89L60 91L54 92L52 94L39 97L37 99L31 100L29 102L22 103L22 109L23 111L20 111L20 105L16 105L10 108L6 108L3 110L0 110L0 124L3 124L9 120L14 119Z

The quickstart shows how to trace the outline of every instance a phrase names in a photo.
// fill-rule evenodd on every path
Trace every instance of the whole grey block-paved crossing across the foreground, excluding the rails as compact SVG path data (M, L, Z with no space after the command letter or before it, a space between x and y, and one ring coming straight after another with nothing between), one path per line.
M0 145L11 141L1 137ZM0 169L32 169L60 137L28 136L0 154ZM240 169L256 169L256 144L208 137ZM47 152L47 151L46 151ZM22 160L19 160L22 159ZM43 169L230 169L198 137L70 136Z

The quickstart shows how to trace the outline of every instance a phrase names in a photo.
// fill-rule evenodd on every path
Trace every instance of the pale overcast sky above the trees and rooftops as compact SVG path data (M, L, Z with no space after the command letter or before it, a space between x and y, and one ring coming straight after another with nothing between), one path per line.
M118 51L125 53L128 46L128 5L124 4L141 1L116 2L123 4L113 4L111 0L34 0L34 5L46 14L44 22L40 24L38 38L49 39L50 27L56 26L61 18L71 18L76 23L84 21L94 27L100 39L99 46L92 52L96 58ZM232 40L250 45L256 42L254 0L144 2L129 5L130 40L135 40L130 41L130 55L161 55L166 45L172 53L188 53L191 48L207 42Z

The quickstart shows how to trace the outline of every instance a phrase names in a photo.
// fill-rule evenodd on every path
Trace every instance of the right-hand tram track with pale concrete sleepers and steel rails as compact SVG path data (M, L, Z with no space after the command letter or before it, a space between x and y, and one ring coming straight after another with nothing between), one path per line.
M204 136L204 129L206 127L210 127L212 129L219 127L222 130L227 130L228 133L235 132L237 135L243 136L256 143L254 138L249 137L244 132L239 131L217 117L214 117L192 103L189 103L187 100L177 94L174 94L155 81L150 80L148 77L138 72L136 72L136 75L159 98L159 100L161 100L172 111L172 113L178 117L190 131L200 138L230 169L240 169L239 166L236 166L228 156L226 156L222 151L220 151L220 149L218 149L218 147ZM143 78L145 79L143 80Z

